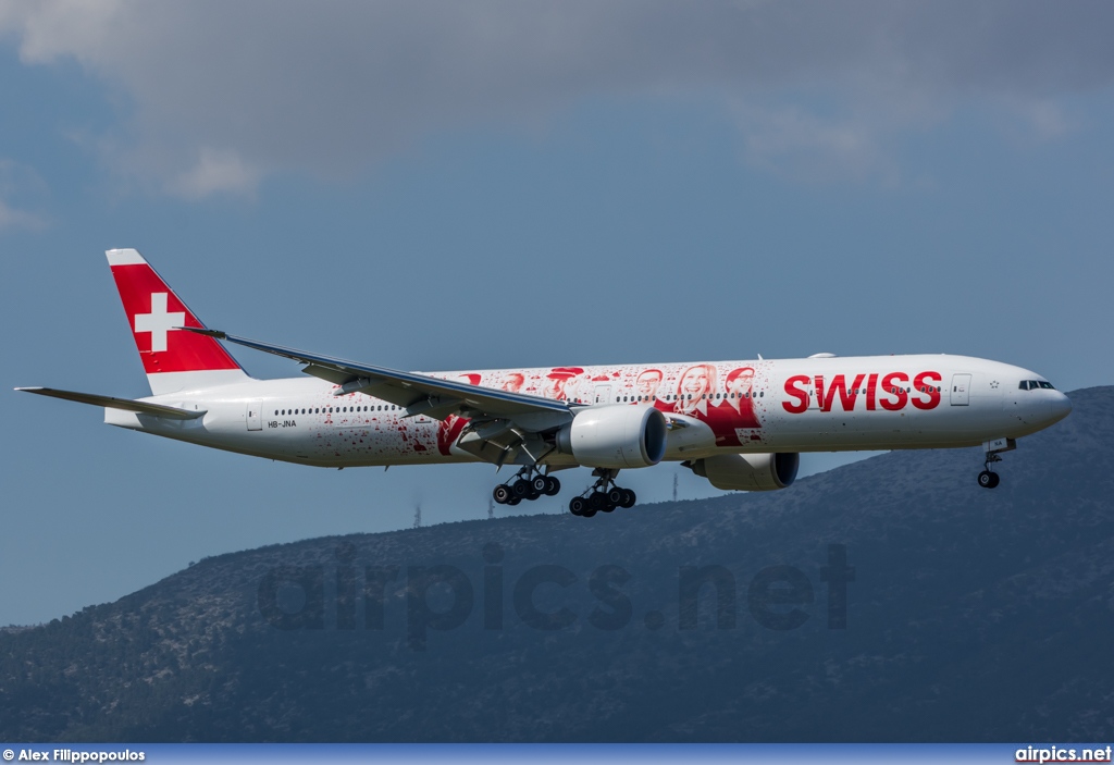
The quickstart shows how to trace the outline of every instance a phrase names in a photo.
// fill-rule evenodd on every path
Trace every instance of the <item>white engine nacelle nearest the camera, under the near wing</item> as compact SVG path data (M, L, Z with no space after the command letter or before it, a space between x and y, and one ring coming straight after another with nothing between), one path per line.
M665 416L653 406L593 406L557 431L557 451L585 468L648 468L665 457Z

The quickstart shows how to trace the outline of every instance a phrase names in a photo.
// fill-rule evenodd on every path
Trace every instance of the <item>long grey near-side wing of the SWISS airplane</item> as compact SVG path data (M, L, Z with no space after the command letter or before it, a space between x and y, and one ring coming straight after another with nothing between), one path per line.
M574 416L573 409L563 401L322 356L237 337L219 330L183 328L292 359L305 364L302 371L306 374L339 385L334 395L364 393L402 406L410 416L423 414L434 420L444 420L450 415L465 416L471 419L476 426L486 422L500 423L505 426L497 426L496 430L514 429L520 435L558 428L570 422ZM489 437L483 435L482 429L473 426L473 430L483 440L488 440Z

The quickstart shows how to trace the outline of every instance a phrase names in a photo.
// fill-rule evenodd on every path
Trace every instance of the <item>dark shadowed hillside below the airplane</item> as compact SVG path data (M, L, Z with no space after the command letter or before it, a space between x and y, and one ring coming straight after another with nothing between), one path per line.
M0 737L1110 741L1114 389L1072 399L993 491L890 453L207 559L0 634Z

